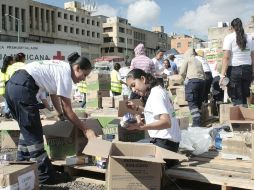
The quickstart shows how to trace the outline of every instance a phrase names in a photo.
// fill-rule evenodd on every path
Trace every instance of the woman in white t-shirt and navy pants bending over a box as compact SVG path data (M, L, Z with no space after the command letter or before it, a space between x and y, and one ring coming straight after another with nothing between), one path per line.
M44 149L42 124L36 95L39 91L50 94L59 117L65 116L74 126L81 129L88 139L94 138L93 130L77 117L71 106L72 82L85 80L92 69L90 61L73 53L68 61L35 61L18 70L6 86L6 101L13 118L20 127L17 152L18 161L35 161L41 184L63 182L57 175ZM61 105L60 105L61 102Z

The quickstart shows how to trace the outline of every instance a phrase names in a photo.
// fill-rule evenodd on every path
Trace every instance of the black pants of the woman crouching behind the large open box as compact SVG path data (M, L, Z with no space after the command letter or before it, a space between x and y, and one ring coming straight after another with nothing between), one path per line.
M151 143L153 143L156 146L159 146L161 148L170 150L172 152L178 152L179 149L179 143L173 142L168 139L159 139L159 138L152 138ZM178 160L168 160L166 159L166 167L170 168L178 163Z

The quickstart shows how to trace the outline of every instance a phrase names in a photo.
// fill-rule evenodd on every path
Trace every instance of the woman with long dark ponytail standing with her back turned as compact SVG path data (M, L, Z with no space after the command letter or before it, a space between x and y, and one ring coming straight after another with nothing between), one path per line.
M231 22L231 28L233 33L228 34L223 42L224 56L220 84L227 76L228 95L233 104L247 106L254 69L254 45L252 36L244 32L239 18Z

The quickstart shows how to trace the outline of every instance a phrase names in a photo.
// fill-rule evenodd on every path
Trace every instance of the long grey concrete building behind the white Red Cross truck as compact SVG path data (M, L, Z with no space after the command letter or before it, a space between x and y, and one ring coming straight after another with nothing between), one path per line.
M0 41L18 41L19 31L20 42L78 45L89 59L101 55L102 23L75 1L63 9L33 0L1 0L0 31Z

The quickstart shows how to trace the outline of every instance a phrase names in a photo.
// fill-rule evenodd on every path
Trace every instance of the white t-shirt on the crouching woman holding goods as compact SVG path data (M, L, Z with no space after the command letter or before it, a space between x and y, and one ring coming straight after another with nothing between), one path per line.
M175 111L171 99L166 90L161 86L151 89L151 93L147 99L144 115L147 124L159 120L161 114L169 114L171 118L171 128L162 130L148 130L151 138L169 139L174 142L180 142L181 131L178 120L175 117Z

